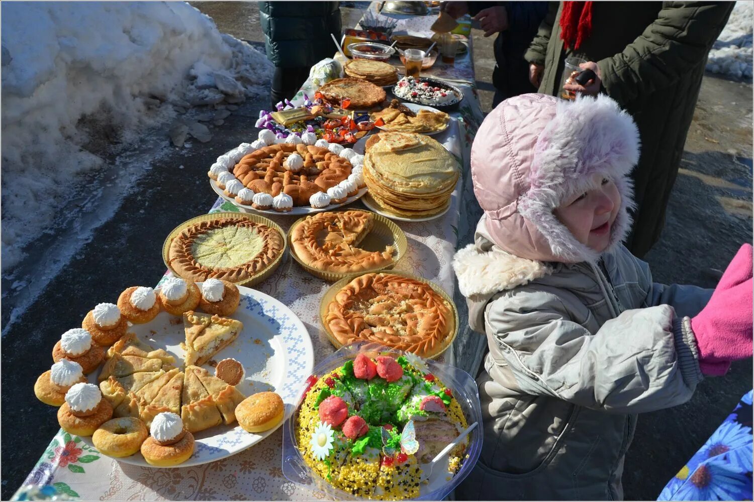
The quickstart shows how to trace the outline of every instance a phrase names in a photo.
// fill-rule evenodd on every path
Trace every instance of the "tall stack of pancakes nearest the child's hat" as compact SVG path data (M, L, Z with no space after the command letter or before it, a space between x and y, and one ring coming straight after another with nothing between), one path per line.
M410 132L380 132L367 143L364 181L381 209L404 218L445 211L460 172L443 145Z

